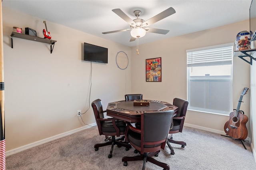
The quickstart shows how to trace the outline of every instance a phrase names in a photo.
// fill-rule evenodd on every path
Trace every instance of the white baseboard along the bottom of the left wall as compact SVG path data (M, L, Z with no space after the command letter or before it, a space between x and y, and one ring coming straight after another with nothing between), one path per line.
M29 148L33 148L33 147L38 146L40 144L44 144L44 143L50 142L52 140L56 140L58 138L62 138L62 137L68 136L68 135L76 133L76 132L80 132L81 130L85 130L85 129L90 128L92 126L96 126L96 123L92 123L90 125L86 125L86 126L83 126L83 127L80 127L80 128L76 128L76 129L70 130L68 132L57 134L55 136L52 136L52 137L49 137L49 138L45 138L43 140L39 140L39 141L30 143L30 144L26 144L24 146L20 146L18 148L14 148L12 150L8 150L8 151L6 151L6 156L10 156L12 154L16 154L16 153L21 152L23 150L27 150Z

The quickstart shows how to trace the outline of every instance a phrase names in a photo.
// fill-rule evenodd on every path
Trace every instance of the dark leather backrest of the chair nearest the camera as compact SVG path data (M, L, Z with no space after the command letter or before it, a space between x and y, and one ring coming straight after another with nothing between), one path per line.
M149 111L149 112L142 113L142 116L141 116L142 143L145 144L145 142L162 141L160 143L163 143L162 145L164 148L166 144L167 136L169 133L169 129L171 126L173 113L174 113L173 110Z

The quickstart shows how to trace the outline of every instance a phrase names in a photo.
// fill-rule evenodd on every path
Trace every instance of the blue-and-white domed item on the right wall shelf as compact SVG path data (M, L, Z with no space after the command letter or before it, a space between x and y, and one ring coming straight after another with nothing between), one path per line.
M236 35L236 50L250 49L251 35L248 31L241 31Z

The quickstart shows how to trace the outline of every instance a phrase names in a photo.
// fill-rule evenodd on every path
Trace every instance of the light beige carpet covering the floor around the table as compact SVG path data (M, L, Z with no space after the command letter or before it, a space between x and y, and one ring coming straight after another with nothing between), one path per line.
M175 140L183 140L182 148L172 144L175 154L170 154L166 145L158 157L166 162L170 170L254 170L256 163L250 144L195 128L184 127L182 133L174 134ZM114 146L112 158L108 158L111 146L94 150L94 144L104 142L104 135L98 134L97 127L91 127L10 155L6 158L7 170L140 170L143 161L128 162L124 166L123 156L135 156L134 148ZM146 162L146 170L162 170L161 167Z

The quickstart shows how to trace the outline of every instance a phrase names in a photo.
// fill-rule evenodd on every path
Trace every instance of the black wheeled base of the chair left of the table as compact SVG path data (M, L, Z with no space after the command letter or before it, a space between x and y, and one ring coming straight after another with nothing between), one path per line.
M106 140L109 140L108 136L106 136ZM121 146L124 146L126 147L125 150L129 150L130 148L132 148L132 146L128 143L124 143L120 140L124 140L124 136L122 136L121 138L118 138L116 139L116 136L112 136L111 137L111 141L107 141L107 142L104 142L104 143L97 143L97 144L94 144L94 148L95 148L95 151L99 150L99 147L102 147L102 146L108 146L108 145L111 145L111 149L110 149L110 152L108 154L108 158L112 158L112 153L113 153L113 149L114 149L114 145L116 144L119 148Z

